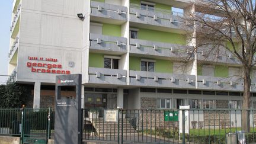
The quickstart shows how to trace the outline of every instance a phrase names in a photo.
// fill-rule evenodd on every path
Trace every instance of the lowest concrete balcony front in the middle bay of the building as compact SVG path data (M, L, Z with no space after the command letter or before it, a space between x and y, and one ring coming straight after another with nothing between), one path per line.
M130 71L130 85L169 88L196 88L196 76L173 73Z

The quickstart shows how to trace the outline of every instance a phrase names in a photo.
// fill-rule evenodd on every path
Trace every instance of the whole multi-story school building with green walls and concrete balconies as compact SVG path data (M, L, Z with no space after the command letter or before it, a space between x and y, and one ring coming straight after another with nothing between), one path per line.
M34 108L53 105L55 76L69 73L82 74L89 108L241 107L231 53L206 59L202 47L184 62L196 44L184 36L188 11L188 0L14 0L9 75L34 85Z

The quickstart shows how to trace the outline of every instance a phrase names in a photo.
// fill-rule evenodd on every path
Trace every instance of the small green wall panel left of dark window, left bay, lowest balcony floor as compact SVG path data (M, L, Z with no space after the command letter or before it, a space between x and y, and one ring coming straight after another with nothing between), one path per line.
M89 53L89 67L104 68L104 55Z

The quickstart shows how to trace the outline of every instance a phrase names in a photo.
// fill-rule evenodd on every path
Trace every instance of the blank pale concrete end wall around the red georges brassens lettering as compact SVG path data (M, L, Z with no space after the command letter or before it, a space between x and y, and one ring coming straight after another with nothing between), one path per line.
M58 70L81 73L83 29L76 14L82 12L83 3L81 0L22 1L17 81L55 82L56 74L31 72L27 62L62 65ZM28 56L43 57L43 60L30 60ZM46 61L46 58L57 59L57 62Z

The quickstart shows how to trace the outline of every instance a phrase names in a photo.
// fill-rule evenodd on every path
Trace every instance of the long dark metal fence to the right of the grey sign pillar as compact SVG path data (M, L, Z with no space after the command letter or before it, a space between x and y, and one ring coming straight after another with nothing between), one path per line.
M104 110L83 110L87 140L138 143L251 143L256 141L254 109L249 132L242 131L242 110L119 110L117 122ZM183 133L184 132L184 133Z

